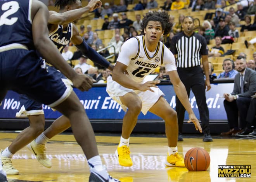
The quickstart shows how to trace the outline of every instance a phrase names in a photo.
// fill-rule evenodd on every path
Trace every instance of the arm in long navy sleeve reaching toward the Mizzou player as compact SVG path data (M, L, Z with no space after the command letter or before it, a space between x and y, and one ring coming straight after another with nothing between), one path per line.
M108 68L113 71L114 65L111 65L109 61L103 58L97 51L92 49L85 40L80 36L79 31L76 26L73 25L73 36L71 42L78 48L80 51L93 62Z

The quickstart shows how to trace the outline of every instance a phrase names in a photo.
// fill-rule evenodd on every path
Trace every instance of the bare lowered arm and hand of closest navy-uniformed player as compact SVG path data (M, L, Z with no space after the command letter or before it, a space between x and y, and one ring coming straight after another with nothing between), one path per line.
M49 39L47 28L49 11L47 7L42 2L33 0L31 17L34 45L43 58L69 78L73 82L74 87L82 91L90 89L92 87L92 80L85 75L78 75L67 64L54 43Z

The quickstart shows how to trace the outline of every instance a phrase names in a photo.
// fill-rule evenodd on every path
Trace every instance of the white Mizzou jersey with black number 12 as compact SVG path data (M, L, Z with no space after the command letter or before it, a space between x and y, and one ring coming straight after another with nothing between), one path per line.
M133 55L133 58L130 58L130 63L128 63L127 65L125 61L122 61L122 55L124 54L122 53L122 51L125 51L127 53L128 50L123 50L121 48L118 61L128 66L126 71L129 74L128 76L132 80L134 80L135 82L142 82L146 75L149 75L158 66L161 66L163 64L164 44L159 41L154 55L150 57L150 53L148 53L146 49L144 36L137 36L135 38L131 38L131 40L129 41L137 41L137 54Z

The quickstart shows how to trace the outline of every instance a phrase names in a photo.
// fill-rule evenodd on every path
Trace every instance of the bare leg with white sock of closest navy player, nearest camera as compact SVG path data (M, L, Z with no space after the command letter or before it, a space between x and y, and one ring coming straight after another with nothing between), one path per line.
M108 175L106 169L103 168L92 125L74 91L71 92L66 100L55 106L54 109L64 114L71 123L74 137L85 153L90 166L91 175L89 181L94 181L93 179L99 178L99 175L107 179L104 181L114 181Z

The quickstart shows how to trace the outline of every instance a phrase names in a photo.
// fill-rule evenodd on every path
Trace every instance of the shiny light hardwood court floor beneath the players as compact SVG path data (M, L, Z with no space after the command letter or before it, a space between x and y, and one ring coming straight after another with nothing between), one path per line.
M10 145L16 133L0 132L0 148ZM118 136L101 134L96 136L97 145L107 170L122 182L255 182L256 181L256 140L221 138L215 136L213 142L202 142L201 136L184 138L178 142L178 151L185 153L193 147L207 150L211 164L207 171L188 172L186 168L165 167L167 139L150 135L130 138L132 167L121 167L114 151L119 142ZM40 165L35 155L23 148L13 157L13 165L20 174L8 176L9 182L86 182L89 168L80 146L73 135L57 135L47 144L47 156L52 161L52 168ZM218 177L218 165L251 165L250 178Z

